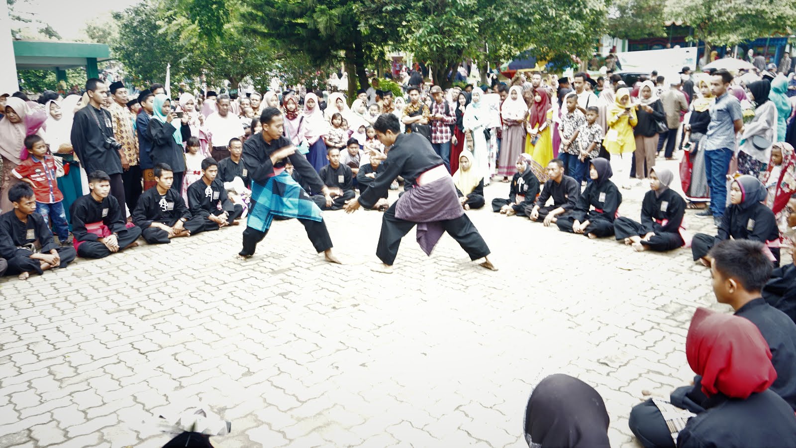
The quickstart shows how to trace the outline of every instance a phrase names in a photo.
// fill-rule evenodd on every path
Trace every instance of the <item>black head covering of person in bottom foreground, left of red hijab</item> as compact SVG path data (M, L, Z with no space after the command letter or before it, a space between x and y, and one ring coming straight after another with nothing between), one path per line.
M610 448L603 397L564 374L542 379L525 407L525 442L533 448Z

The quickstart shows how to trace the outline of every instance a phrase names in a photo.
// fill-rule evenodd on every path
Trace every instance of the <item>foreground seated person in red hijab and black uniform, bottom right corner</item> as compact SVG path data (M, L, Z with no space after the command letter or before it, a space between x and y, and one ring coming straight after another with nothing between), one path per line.
M730 287L725 283L724 288ZM700 377L704 411L691 417L685 412L677 415L677 408L663 400L639 404L630 413L628 425L642 446L796 446L794 411L773 390L777 371L755 324L697 308L685 338L685 356ZM672 417L664 419L658 406ZM652 412L639 411L649 409ZM678 430L675 445L673 434Z

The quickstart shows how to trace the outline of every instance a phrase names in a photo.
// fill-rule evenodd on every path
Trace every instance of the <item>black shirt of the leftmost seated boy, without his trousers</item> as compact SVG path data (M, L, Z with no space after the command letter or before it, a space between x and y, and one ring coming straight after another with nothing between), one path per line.
M41 245L43 253L57 248L53 241L53 231L49 229L44 218L41 218L41 214L29 214L28 222L21 222L14 210L0 214L0 257L29 257L33 252L18 248L36 241Z

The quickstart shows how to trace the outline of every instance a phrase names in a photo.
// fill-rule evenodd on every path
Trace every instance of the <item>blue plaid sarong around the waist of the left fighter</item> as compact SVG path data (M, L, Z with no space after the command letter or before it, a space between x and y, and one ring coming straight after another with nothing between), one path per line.
M321 221L321 209L287 171L282 171L260 185L252 181L252 201L246 225L264 232L275 216Z

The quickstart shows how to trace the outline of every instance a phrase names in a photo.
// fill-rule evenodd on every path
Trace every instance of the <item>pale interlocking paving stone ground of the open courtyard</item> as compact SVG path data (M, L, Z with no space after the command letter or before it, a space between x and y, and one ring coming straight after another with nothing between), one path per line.
M629 163L615 159L615 182ZM623 215L638 218L646 188L622 190ZM507 191L486 187L487 203ZM689 230L714 231L693 213ZM204 406L232 420L219 448L521 447L528 393L555 372L603 395L612 446L636 446L627 415L641 391L692 377L693 309L728 311L708 271L690 250L469 215L498 272L447 235L426 257L412 232L396 273L373 273L381 214L360 210L324 214L345 266L290 221L243 263L240 226L6 278L0 446L162 446L144 419Z

